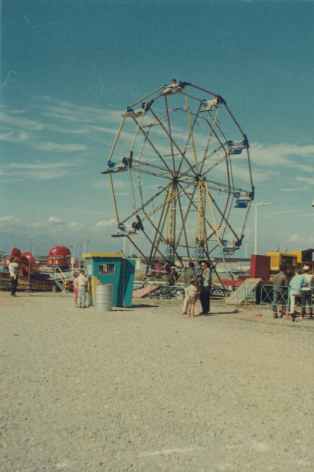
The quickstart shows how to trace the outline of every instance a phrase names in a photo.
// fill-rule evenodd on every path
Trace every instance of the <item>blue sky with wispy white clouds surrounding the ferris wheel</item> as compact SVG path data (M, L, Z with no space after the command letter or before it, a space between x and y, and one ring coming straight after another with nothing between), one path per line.
M119 250L101 171L126 106L173 77L221 95L248 136L255 202L274 202L258 207L258 253L314 247L314 2L3 0L1 13L0 249L46 235ZM253 249L252 208L237 255Z

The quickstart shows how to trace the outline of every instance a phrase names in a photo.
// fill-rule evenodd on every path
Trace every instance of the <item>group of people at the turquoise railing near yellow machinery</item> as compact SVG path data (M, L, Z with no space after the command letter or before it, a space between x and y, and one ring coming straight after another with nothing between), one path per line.
M312 302L312 287L314 287L314 276L311 272L309 265L304 265L302 269L299 269L292 277L290 282L286 275L286 266L280 265L278 274L273 277L273 302L272 311L274 318L278 318L277 305L281 302L282 310L280 317L285 313L285 305L287 300L287 293L289 292L289 306L290 316L292 321L296 319L296 298L301 300L301 315L302 318L306 314L306 305L309 307L309 316L313 318L313 302Z

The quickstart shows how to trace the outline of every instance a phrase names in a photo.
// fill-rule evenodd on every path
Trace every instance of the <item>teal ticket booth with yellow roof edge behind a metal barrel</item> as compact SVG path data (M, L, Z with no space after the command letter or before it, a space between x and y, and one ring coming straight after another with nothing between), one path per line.
M123 252L90 252L83 254L86 275L90 281L90 304L95 307L96 285L113 285L113 307L131 307L135 261L125 259Z

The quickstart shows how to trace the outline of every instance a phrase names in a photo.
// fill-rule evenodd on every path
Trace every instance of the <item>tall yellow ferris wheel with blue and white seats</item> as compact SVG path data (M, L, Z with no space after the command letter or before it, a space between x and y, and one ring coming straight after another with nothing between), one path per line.
M240 248L254 198L249 143L220 95L173 79L128 106L103 174L113 236L128 238L147 267L215 265Z

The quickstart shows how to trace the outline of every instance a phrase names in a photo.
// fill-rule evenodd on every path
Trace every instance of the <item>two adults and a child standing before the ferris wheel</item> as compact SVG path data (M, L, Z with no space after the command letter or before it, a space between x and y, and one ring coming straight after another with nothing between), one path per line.
M208 315L210 309L211 270L206 260L200 262L200 271L197 275L194 262L190 262L184 273L184 291L182 314L198 316L195 313L197 295L199 294L202 311L199 315Z

